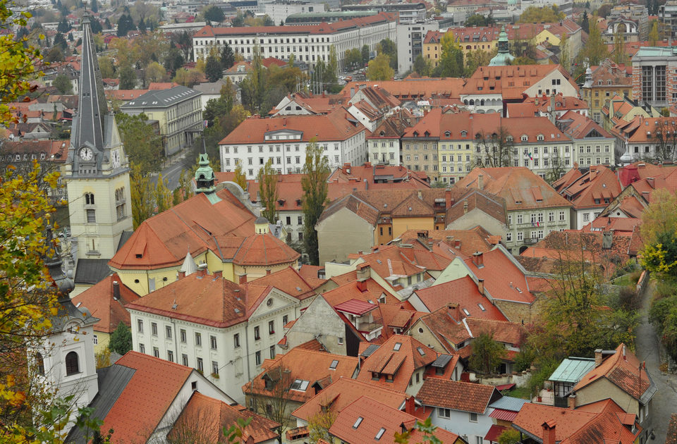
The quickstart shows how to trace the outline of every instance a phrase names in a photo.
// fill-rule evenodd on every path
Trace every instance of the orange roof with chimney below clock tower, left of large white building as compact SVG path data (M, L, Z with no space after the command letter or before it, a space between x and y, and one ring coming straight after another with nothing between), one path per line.
M118 299L116 299L114 283L118 285ZM126 326L131 325L125 304L138 299L139 295L123 284L117 273L114 273L73 297L73 304L83 304L92 316L99 318L99 322L94 324L94 331L113 333L121 322Z

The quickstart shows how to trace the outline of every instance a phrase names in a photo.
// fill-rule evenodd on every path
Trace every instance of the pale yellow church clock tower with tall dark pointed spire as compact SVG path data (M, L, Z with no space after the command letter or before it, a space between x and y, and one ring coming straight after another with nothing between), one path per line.
M73 118L65 174L78 265L87 259L111 259L122 233L133 225L129 161L106 105L87 16L83 18L81 69L78 113Z

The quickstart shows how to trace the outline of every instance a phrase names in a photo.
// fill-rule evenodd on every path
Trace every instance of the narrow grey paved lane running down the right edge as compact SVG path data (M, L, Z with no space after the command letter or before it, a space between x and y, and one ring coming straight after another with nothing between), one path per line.
M640 325L637 328L637 357L640 361L646 361L647 370L658 388L652 402L652 427L656 433L655 443L664 443L668 431L670 416L677 413L677 376L661 374L659 364L661 362L658 338L654 326L649 323L649 302L654 294L655 286L650 285L645 292L645 300L642 306Z

